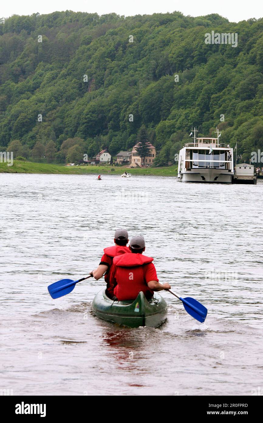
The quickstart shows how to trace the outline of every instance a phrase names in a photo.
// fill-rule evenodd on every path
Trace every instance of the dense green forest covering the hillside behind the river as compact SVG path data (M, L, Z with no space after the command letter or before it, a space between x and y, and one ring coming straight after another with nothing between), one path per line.
M211 31L237 33L237 47L206 44ZM219 127L242 161L263 149L263 19L72 11L0 19L0 151L49 162L102 148L114 155L145 127L156 165L165 165L192 126L198 136Z

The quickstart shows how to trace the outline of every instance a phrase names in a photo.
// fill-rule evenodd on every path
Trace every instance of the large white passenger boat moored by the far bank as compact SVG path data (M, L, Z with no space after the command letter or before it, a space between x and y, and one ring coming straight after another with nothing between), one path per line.
M179 152L178 178L182 182L232 183L233 148L219 143L217 138L196 138L196 128L191 132L193 142L186 143Z

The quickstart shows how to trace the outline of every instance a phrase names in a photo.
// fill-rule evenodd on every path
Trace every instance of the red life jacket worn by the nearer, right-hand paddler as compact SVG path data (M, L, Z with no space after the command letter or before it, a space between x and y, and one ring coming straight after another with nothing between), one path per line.
M119 301L136 299L140 291L147 298L152 297L154 291L148 287L145 279L147 264L152 261L152 257L139 253L127 253L113 259L112 272L117 281L114 295Z

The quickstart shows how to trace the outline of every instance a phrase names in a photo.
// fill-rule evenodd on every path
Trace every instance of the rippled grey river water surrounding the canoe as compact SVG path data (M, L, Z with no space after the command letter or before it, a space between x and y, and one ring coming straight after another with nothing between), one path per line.
M253 395L263 387L263 181L0 174L0 389L14 395ZM92 315L104 280L47 286L100 262L116 228L146 240L160 282L208 308L199 324L162 291L159 328Z

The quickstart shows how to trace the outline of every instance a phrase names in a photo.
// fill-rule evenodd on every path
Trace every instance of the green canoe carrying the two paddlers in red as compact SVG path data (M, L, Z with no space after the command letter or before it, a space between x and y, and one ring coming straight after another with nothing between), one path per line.
M101 319L128 327L157 327L167 317L167 304L163 297L155 293L148 301L142 291L133 301L113 301L107 297L103 288L95 295L92 310Z

